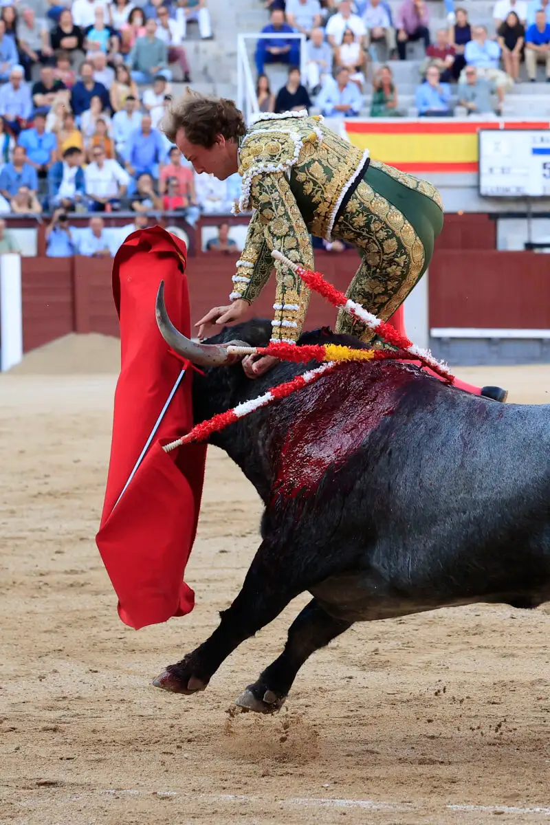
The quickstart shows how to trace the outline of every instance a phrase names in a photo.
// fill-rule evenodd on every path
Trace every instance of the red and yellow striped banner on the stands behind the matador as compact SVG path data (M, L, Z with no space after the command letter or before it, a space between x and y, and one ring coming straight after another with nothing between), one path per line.
M350 142L402 172L477 172L482 129L550 129L548 120L346 120Z

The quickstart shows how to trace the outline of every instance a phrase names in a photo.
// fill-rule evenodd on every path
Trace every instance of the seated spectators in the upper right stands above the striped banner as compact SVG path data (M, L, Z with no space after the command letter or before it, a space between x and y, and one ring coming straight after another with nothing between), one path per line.
M411 42L419 42L424 54L414 112L421 117L452 117L457 105L461 114L501 114L505 93L520 82L523 62L529 81L535 82L537 66L544 64L550 82L550 0L497 0L490 31L469 21L468 12L455 8L453 0L444 0L448 26L436 32L435 42L425 0L402 0L395 14L386 0L270 0L266 5L270 22L256 45L261 111L315 106L327 117L412 114L399 106L391 68L393 60L407 59ZM284 38L291 34L307 38L305 54L298 38ZM289 66L288 81L277 93L264 73L266 64L275 63ZM299 64L305 67L304 78ZM365 111L369 70L372 95Z

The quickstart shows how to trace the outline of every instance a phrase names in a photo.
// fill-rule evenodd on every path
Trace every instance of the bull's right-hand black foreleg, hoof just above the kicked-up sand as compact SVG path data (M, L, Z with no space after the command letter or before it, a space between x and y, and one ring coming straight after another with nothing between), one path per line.
M249 685L235 704L258 713L273 713L283 705L303 662L331 639L344 633L353 622L333 619L319 606L309 602L289 627L289 638L283 653L275 659L260 678Z

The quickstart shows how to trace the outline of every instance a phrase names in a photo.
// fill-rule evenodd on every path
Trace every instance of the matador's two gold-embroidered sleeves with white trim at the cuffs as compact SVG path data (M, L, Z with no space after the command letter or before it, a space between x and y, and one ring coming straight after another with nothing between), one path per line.
M255 208L247 243L237 265L231 297L252 302L260 295L273 268L271 250L278 249L291 261L313 269L313 247L289 182L283 172L256 176L251 183ZM277 290L272 341L294 343L302 332L308 310L309 290L294 272L275 265ZM236 280L235 280L236 279Z

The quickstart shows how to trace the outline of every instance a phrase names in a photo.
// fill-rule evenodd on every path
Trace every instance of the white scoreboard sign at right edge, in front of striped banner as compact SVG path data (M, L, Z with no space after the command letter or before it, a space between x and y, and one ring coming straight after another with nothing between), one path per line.
M550 130L480 130L479 194L550 197Z

